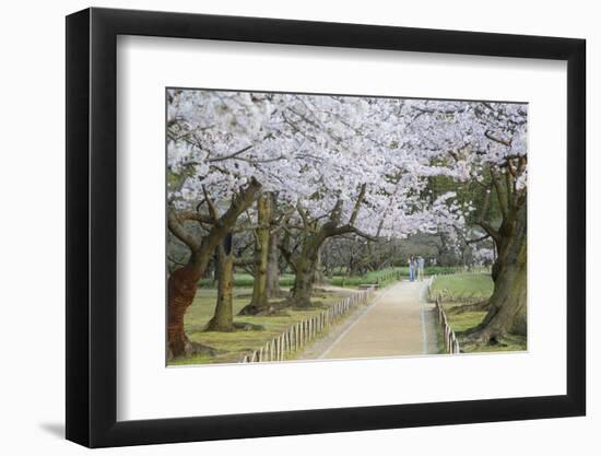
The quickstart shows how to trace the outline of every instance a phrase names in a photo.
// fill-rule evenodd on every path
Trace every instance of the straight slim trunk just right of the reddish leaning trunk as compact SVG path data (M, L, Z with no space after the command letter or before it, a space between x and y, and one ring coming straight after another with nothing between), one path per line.
M213 318L207 324L208 331L231 332L234 330L233 316L233 282L234 255L232 253L232 234L228 234L223 244L217 247L219 282L217 302Z

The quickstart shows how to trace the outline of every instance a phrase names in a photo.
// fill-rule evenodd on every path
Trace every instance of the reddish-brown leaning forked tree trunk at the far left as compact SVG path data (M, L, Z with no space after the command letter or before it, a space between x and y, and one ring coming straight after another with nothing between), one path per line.
M204 274L213 252L235 225L238 217L252 204L260 190L261 185L252 179L248 187L233 199L229 209L219 219L219 223L213 225L209 234L198 244L189 238L189 234L176 218L169 217L169 230L176 232L176 236L180 239L186 239L192 250L188 264L176 269L169 276L167 283L169 358L189 355L197 351L198 346L195 347L190 342L184 330L184 316L195 300L198 281Z

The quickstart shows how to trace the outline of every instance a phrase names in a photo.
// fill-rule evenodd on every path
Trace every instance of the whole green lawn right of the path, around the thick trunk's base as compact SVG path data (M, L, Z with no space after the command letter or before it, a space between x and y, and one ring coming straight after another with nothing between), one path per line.
M497 351L523 351L527 349L527 339L523 336L507 335L498 344L470 347L463 344L464 334L482 323L486 311L469 311L457 313L452 309L464 304L466 299L487 300L493 293L493 280L483 273L459 273L437 277L432 285L433 295L443 296L443 308L447 319L459 339L461 351L469 352L497 352ZM443 337L438 330L438 347L443 347Z

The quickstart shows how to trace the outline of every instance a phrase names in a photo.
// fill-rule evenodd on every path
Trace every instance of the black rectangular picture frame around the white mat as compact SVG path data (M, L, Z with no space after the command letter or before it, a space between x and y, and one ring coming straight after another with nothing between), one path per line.
M117 421L117 36L567 61L567 394ZM582 416L586 411L584 39L87 9L67 17L67 439L90 447Z

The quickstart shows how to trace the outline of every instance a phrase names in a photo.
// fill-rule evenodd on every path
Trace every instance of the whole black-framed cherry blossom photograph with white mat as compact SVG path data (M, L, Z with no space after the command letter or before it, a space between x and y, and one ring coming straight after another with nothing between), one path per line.
M585 40L67 17L67 439L582 416Z

